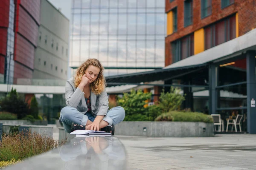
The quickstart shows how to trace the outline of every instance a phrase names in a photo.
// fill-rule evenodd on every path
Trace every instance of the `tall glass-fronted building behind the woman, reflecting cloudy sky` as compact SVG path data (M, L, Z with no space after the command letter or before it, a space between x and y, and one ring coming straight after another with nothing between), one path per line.
M72 0L71 25L71 74L89 58L105 76L164 66L165 0Z

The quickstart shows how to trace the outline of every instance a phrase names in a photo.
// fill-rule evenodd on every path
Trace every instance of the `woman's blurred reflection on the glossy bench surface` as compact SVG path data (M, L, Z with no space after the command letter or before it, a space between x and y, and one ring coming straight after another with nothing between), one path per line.
M60 148L66 170L123 170L125 148L116 137L76 137Z

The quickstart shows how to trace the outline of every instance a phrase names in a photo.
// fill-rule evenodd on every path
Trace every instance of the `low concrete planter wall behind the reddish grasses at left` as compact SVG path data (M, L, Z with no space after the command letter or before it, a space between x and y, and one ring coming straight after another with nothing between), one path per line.
M29 129L31 133L39 133L43 136L53 136L53 127L50 126L41 126L41 125L3 125L3 133L9 134L12 126L19 127L20 129Z

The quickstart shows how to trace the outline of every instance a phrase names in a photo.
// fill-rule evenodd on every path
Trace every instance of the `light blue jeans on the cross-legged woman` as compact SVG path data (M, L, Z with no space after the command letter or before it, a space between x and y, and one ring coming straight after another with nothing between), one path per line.
M94 121L95 117L87 112L85 114L82 114L79 112L76 108L72 108L69 106L64 107L61 109L61 122L63 123L64 129L67 133L70 133L71 131L71 125L72 123L76 123L79 125L86 125L87 120ZM107 116L104 116L102 120L108 122L108 126L116 125L125 119L125 109L117 106L114 108L111 108Z

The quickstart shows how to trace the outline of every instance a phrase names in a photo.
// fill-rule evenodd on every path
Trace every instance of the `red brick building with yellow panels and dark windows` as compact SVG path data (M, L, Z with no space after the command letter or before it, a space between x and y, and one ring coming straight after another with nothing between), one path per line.
M165 65L256 28L255 0L166 0Z

